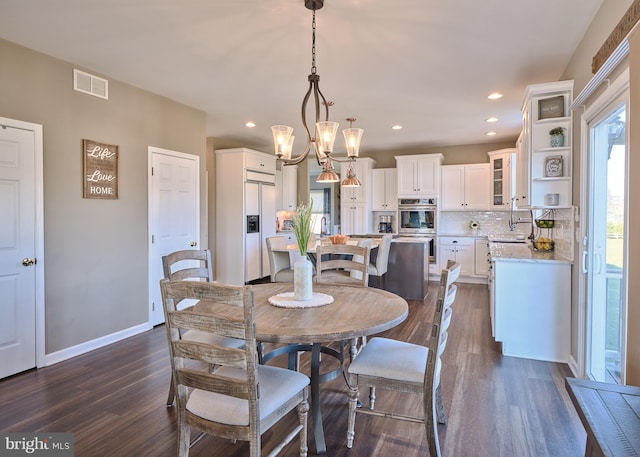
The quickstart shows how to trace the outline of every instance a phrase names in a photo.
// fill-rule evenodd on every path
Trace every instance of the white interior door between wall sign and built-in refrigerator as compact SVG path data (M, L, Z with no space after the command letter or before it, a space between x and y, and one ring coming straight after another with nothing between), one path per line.
M162 256L200 247L200 157L149 147L149 320L164 322Z

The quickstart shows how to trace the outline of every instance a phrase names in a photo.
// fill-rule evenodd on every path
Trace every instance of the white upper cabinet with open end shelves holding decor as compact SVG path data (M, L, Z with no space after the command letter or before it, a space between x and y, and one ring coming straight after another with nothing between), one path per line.
M559 195L554 208L572 205L572 101L573 81L527 87L522 139L517 144L518 208L551 207L545 199L548 194ZM564 130L562 146L550 144L549 131L556 127Z

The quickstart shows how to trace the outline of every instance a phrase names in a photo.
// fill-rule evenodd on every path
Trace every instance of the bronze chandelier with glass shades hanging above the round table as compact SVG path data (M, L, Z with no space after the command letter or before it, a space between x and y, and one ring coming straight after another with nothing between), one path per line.
M353 162L358 157L360 151L360 141L362 140L363 129L353 128L353 122L355 118L347 118L349 121L349 128L344 129L342 134L347 146L347 158L336 159L331 154L333 153L333 143L336 139L336 133L338 131L338 123L329 121L329 106L332 102L327 102L324 95L320 91L320 75L317 74L316 69L316 10L319 10L324 5L324 0L305 0L305 7L313 12L312 20L312 35L311 35L311 74L308 76L309 89L302 100L302 126L307 135L307 142L304 151L297 157L292 157L293 149L293 127L287 125L274 125L271 127L273 133L273 144L275 148L276 156L284 165L295 165L307 158L311 151L311 145L313 144L316 160L318 165L322 167L322 173L318 176L316 182L320 183L333 183L339 182L333 162L349 162L349 169L347 171L347 178L342 182L345 187L358 187L360 181L355 175L353 170ZM315 107L315 131L314 135L311 135L309 126L307 124L307 103L309 98L313 94L313 102ZM324 120L322 120L320 113L320 101L324 106Z

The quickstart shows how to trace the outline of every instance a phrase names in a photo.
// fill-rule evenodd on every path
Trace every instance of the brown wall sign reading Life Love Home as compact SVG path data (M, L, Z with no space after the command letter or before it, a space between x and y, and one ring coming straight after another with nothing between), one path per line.
M118 146L82 140L83 198L118 198Z

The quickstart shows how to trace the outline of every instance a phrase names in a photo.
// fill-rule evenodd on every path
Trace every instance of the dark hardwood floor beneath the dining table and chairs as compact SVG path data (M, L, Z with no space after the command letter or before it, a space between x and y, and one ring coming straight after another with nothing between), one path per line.
M432 288L434 286L432 285ZM384 336L425 343L433 314L427 299L410 301L409 318ZM303 360L304 362L304 360ZM586 434L564 387L565 364L502 357L491 338L486 286L460 284L442 392L448 423L440 429L446 457L570 457L584 455ZM0 430L74 433L76 457L175 455L175 410L165 400L169 356L164 327L72 360L0 381ZM420 425L358 416L353 449L346 448L344 380L322 385L327 455L426 456ZM419 411L417 397L378 392L377 404ZM263 452L281 425L263 435ZM309 433L309 454L314 455ZM297 442L282 455L295 456ZM240 457L245 443L206 437L191 456Z

